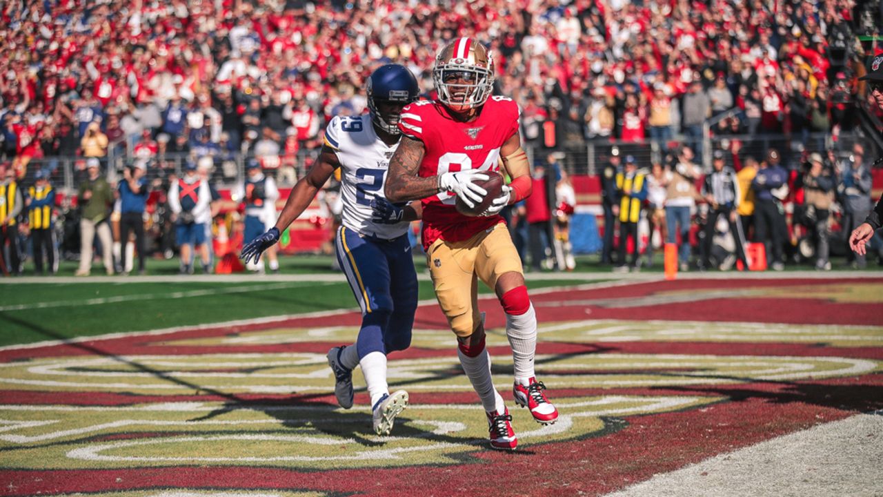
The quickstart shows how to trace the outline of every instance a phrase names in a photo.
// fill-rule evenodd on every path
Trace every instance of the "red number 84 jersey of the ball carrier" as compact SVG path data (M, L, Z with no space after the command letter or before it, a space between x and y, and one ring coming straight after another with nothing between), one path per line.
M477 118L460 122L442 103L423 100L402 110L398 128L423 141L426 154L419 176L426 178L467 169L500 170L500 149L518 132L521 111L505 96L491 96ZM464 241L475 233L503 223L500 216L472 218L457 212L457 195L442 192L423 199L423 248L438 239Z

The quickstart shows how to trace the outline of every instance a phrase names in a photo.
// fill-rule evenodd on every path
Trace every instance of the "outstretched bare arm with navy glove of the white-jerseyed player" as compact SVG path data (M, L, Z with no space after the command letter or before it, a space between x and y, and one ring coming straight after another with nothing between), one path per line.
M319 189L328 181L335 168L339 166L340 162L337 160L334 150L328 148L327 145L323 146L319 159L316 160L310 171L291 188L291 194L288 195L288 200L285 201L285 207L279 213L275 226L270 228L267 233L261 234L258 238L246 244L239 256L246 263L249 259L253 259L253 262L257 263L260 260L260 254L279 241L280 233L285 231L285 228L288 226L291 226L291 223L306 210L306 207L313 202L313 198L319 192Z

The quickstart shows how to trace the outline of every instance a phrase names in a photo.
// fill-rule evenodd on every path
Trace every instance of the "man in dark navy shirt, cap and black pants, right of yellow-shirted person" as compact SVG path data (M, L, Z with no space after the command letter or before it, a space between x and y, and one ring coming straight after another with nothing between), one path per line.
M788 172L779 165L779 152L770 149L766 160L760 163L758 174L751 180L754 189L755 240L766 246L766 258L774 271L785 269L782 245L788 238L785 210L781 205L781 191L788 188ZM787 194L785 194L787 195Z

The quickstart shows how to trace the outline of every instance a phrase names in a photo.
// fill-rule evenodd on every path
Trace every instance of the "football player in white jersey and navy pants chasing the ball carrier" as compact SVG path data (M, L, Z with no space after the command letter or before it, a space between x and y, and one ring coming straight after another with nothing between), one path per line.
M362 326L353 345L328 351L328 365L344 409L352 407L352 369L361 366L374 409L374 432L386 435L408 405L404 390L389 394L387 354L411 345L417 273L406 232L422 209L419 203L387 202L383 183L401 136L400 113L417 100L419 86L407 68L390 64L371 74L366 89L370 113L331 119L319 160L291 190L275 226L246 245L242 258L257 262L341 168L343 222L336 235L337 259L362 309Z

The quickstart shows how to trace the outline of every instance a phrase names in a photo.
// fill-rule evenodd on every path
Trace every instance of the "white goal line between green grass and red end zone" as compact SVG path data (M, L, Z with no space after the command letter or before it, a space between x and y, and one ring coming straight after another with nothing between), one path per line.
M2 279L0 279L0 281L2 281ZM570 290L591 290L591 289L595 289L595 288L623 287L626 285L633 285L636 283L645 283L646 281L647 280L642 280L642 281L601 281L598 283L588 283L588 284L584 284L584 285L577 285L574 287L570 287L570 286L568 286L568 287L547 287L547 288L539 288L536 290L532 290L531 294L548 294L548 293L552 293L552 292L561 291L563 288L567 288ZM495 298L496 297L493 294L479 295L479 300L488 300L488 299L495 299ZM419 301L418 304L420 306L438 305L438 302L435 299L426 299L426 300ZM167 333L191 332L191 331L196 331L196 330L217 328L220 326L232 327L232 326L271 325L273 323L282 323L284 321L289 321L291 319L298 319L298 318L299 319L309 319L312 317L341 316L343 314L349 314L351 312L356 312L356 310L355 309L321 310L321 311L316 311L316 312L306 312L303 314L281 314L278 316L253 317L250 319L238 319L235 321L204 323L201 325L172 326L170 328L162 328L159 330L106 333L106 334L102 334L102 335L77 337L77 338L72 338L72 339L68 339L68 340L44 340L44 341L38 341L35 343L7 345L4 347L0 347L0 352L6 351L6 350L19 350L19 349L26 349L26 348L52 347L55 345L62 345L65 343L80 343L80 342L84 342L84 341L116 340L116 339L126 338L126 337L155 336L155 335L163 335L163 334L167 334Z

